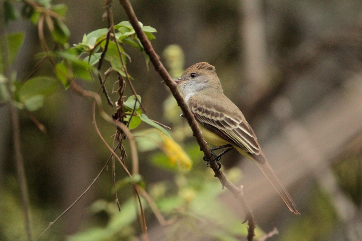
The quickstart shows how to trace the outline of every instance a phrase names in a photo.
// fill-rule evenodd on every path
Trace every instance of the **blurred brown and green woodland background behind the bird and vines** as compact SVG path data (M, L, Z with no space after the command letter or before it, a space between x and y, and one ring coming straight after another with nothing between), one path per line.
M85 33L107 26L102 21L103 1L53 2L68 5L71 45L81 42ZM258 167L236 151L223 156L223 171L244 186L258 225L257 238L277 227L279 235L268 240L362 240L361 1L131 3L139 21L157 29L152 44L173 77L200 61L216 67L225 94L243 111L298 206L301 215L292 215ZM128 20L118 1L113 3L113 15L115 23ZM10 22L8 31L25 31L30 40L23 43L13 65L21 78L33 68L34 54L42 51L37 29L19 20ZM173 139L193 162L189 172L165 168L160 160L167 162L167 155L160 149L148 151L152 148L138 142L143 185L164 216L177 220L163 227L146 205L150 240L244 238L243 211L205 167L168 88L151 64L147 71L142 54L125 49L147 116L170 126ZM176 67L170 64L172 58L179 63ZM37 74L52 75L48 67ZM111 75L106 83L109 92L115 81ZM78 82L93 91L99 87L96 81ZM125 95L132 95L128 86ZM110 97L117 100L117 93ZM45 125L46 134L20 113L34 236L75 201L109 156L94 130L91 108L92 100L59 86L33 113ZM115 111L104 108L110 115ZM0 240L26 240L9 116L8 107L1 107ZM97 120L111 144L114 126ZM141 124L134 132L148 128ZM129 152L126 142L125 148ZM126 164L131 165L130 158ZM121 181L125 177L119 167L116 177ZM110 166L41 240L138 240L141 231L130 185L119 184L118 196L121 213L114 202Z

